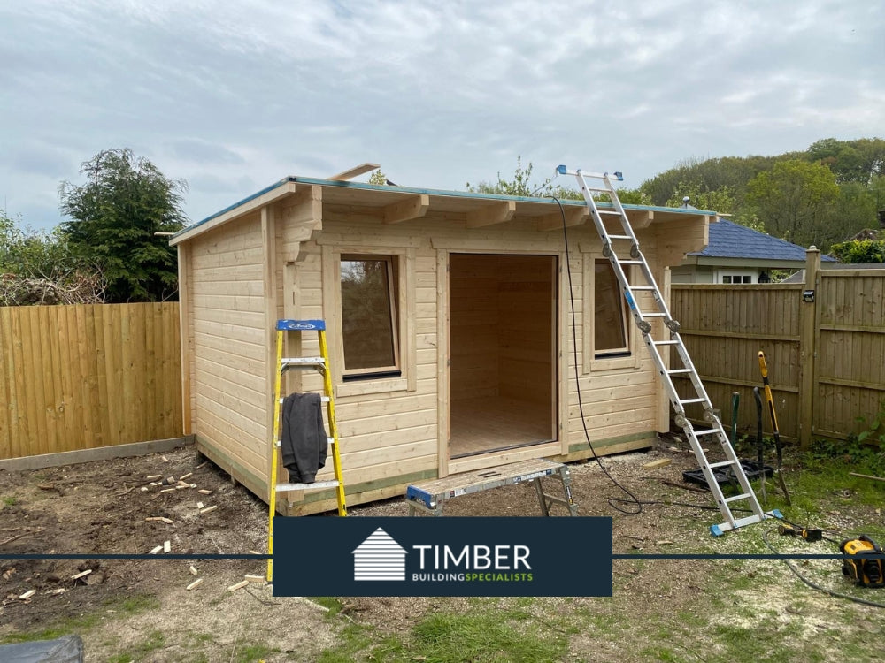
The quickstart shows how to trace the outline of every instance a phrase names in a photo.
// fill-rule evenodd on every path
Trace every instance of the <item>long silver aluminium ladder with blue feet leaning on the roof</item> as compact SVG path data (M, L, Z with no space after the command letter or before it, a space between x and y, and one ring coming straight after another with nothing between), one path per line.
M645 256L642 251L639 250L639 240L636 240L633 227L630 225L627 213L620 204L618 194L612 186L612 179L610 179L609 174L607 172L595 173L582 172L580 170L568 171L564 165L558 166L557 173L560 175L573 175L577 179L578 185L581 187L581 193L584 195L585 202L587 202L590 216L593 218L593 223L596 225L596 231L599 232L599 238L603 242L603 255L609 259L610 263L612 263L612 269L614 270L615 276L618 278L618 283L624 293L624 298L627 300L630 311L633 314L636 326L639 327L639 330L643 333L643 341L645 342L646 347L649 348L651 358L654 360L655 366L658 368L658 374L663 380L667 395L673 405L673 410L676 412L676 424L681 427L682 431L685 431L685 436L689 438L689 443L695 453L697 463L703 470L707 484L710 486L710 491L716 499L716 504L719 506L722 515L725 517L725 522L720 525L712 525L710 530L714 535L718 536L727 530L735 530L736 528L743 527L743 525L763 521L768 515L778 516L779 514L777 514L776 511L772 514L766 514L762 510L758 499L756 499L756 494L750 487L750 481L747 479L743 467L741 466L741 462L735 454L735 449L731 446L731 442L729 442L726 432L722 428L720 418L713 412L710 397L707 396L707 392L704 390L704 385L701 383L701 378L697 375L695 365L691 362L685 344L682 342L679 334L679 323L676 320L673 320L673 317L670 315L670 310L667 308L666 302L658 289L658 284L655 282L655 279L651 274L649 263L646 262ZM613 173L613 178L618 181L623 180L620 172ZM587 184L587 179L601 180L601 186L589 186ZM612 199L612 206L614 209L600 210L596 205L596 200L593 198L594 193L608 194ZM603 217L616 219L620 223L621 232L616 234L609 232L605 227ZM614 248L614 242L619 242L618 246L620 251L629 251L629 258L623 259L619 257L618 251ZM627 278L627 271L625 271L624 268L629 268L631 265L637 265L642 270L645 285L633 285L630 283ZM641 310L639 308L637 301L642 293L650 293L652 295L657 310ZM655 340L651 338L650 320L656 318L663 320L664 326L667 331L670 332L669 339ZM658 349L660 347L675 347L676 352L680 356L683 368L667 368L666 363L664 362L664 357ZM694 398L683 399L679 393L676 392L676 388L673 385L673 376L675 375L689 377L691 385L696 392ZM692 403L698 403L704 408L704 421L710 425L710 428L698 431L695 430L694 426L689 421L688 416L685 414L685 406ZM704 454L704 447L700 442L701 438L716 439L720 443L727 460L719 462L708 461ZM725 495L722 494L720 484L713 476L713 469L725 467L731 469L741 486L740 494L733 497L725 497ZM743 518L735 517L730 505L734 502L741 501L747 503L752 515Z

